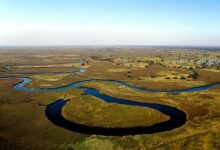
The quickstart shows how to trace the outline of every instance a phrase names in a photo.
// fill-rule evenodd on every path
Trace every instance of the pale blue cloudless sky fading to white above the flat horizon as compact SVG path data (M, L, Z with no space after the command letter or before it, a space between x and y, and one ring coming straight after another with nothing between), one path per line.
M220 1L0 0L0 45L220 46Z

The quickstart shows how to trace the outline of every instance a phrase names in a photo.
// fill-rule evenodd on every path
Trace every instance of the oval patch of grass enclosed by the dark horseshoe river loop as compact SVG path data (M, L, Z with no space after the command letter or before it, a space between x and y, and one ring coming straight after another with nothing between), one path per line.
M106 103L92 96L71 99L62 114L72 122L104 128L150 126L169 119L151 108Z

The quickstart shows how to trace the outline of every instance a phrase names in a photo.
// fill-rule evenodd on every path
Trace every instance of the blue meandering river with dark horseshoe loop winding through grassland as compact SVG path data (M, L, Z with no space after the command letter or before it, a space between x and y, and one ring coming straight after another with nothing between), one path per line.
M71 73L72 75L80 74L85 72L86 69L80 68L78 72ZM107 103L117 103L122 105L132 105L132 106L139 106L139 107L148 107L155 110L160 111L163 114L166 114L170 117L169 120L163 121L160 123L156 123L150 126L143 126L143 127L129 127L129 128L103 128L103 127L96 127L96 126L87 126L83 124L78 124L71 122L65 119L62 116L62 108L68 102L68 100L57 100L54 103L50 104L46 108L46 116L47 118L53 122L55 125L65 128L67 130L71 130L74 132L80 132L85 134L98 134L98 135L112 135L112 136L122 136L122 135L135 135L135 134L152 134L158 132L169 131L172 129L176 129L181 127L187 121L187 116L184 111L171 107L168 105L156 104L156 103L143 103L143 102L136 102L126 99L120 99L116 97L111 97L106 94L100 93L99 90L87 87L81 87L82 84L87 82L111 82L114 84L123 85L135 90L141 90L146 92L167 92L167 93L181 93L181 92L197 92L202 90L208 90L214 88L216 86L220 86L220 82L216 82L213 84L205 85L205 86L198 86L188 89L182 90L155 90L155 89L148 89L148 88L141 88L135 85L132 85L127 82L116 81L116 80L84 80L76 83L69 84L67 86L57 87L57 88L26 88L25 85L32 81L31 78L19 78L22 81L15 84L14 88L20 91L25 92L53 92L53 91L60 91L60 90L67 90L67 89L81 89L84 90L83 95L92 95ZM82 95L82 96L83 96Z

